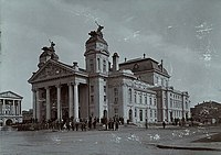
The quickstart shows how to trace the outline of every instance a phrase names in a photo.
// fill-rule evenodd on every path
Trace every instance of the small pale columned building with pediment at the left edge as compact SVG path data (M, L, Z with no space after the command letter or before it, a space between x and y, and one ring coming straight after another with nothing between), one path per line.
M12 91L0 92L0 126L22 122L22 99Z

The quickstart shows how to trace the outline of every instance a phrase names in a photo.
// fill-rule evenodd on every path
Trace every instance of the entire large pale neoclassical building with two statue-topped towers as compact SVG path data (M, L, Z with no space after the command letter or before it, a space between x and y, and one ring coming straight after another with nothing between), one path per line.
M162 62L159 64L144 55L119 64L119 56L114 53L110 63L103 29L99 25L88 33L85 69L76 62L72 65L60 62L53 42L50 47L42 48L39 69L29 79L33 118L46 121L117 115L133 123L188 118L189 95L169 87L170 76ZM173 95L179 95L179 101Z

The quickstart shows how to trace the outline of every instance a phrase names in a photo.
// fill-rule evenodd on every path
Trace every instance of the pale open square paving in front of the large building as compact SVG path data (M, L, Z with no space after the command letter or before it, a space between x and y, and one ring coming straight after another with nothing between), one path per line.
M221 154L220 129L220 126L167 126L146 130L120 126L119 131L1 131L0 154L219 155Z

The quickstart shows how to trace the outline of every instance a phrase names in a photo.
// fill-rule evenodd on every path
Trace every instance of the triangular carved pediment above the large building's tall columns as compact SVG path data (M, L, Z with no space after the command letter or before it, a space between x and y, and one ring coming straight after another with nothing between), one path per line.
M35 74L33 74L33 76L29 79L29 82L32 84L36 81L55 79L71 76L73 74L74 70L71 66L50 59Z

